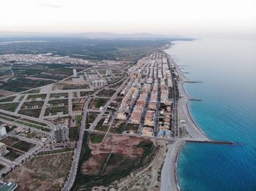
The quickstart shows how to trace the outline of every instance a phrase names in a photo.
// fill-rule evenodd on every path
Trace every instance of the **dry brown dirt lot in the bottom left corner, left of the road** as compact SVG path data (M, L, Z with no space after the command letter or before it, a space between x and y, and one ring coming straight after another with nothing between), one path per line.
M72 152L34 157L8 174L4 181L15 182L19 190L61 190L69 173Z

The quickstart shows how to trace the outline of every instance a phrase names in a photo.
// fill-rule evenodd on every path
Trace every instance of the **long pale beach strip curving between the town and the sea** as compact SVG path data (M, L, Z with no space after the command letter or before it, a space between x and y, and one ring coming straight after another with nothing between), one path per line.
M211 141L210 139L208 139L206 134L197 127L189 112L188 102L191 99L189 98L189 95L184 89L184 83L189 82L190 80L184 76L184 73L183 71L181 71L180 66L178 66L173 60L170 61L172 62L172 64L176 65L176 71L179 76L178 91L180 95L183 95L182 98L178 100L178 122L180 122L180 120L186 121L186 129L189 135L185 138L176 138L176 141L174 141L173 144L168 145L165 163L161 172L162 191L180 190L177 174L178 156L186 141Z

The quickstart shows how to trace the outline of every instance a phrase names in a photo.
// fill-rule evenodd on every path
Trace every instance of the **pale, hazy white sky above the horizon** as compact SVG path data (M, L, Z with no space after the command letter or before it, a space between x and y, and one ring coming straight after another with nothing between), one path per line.
M256 34L256 0L0 0L0 31Z

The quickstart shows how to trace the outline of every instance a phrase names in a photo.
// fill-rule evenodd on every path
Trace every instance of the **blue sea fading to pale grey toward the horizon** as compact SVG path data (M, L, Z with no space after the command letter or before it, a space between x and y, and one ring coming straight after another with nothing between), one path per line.
M199 39L167 50L189 79L197 125L234 145L186 144L178 159L181 190L256 190L256 40Z

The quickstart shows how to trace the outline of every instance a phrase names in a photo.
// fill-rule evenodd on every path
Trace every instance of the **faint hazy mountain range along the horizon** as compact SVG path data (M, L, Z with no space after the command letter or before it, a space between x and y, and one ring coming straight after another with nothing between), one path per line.
M95 38L95 39L118 39L118 38L129 38L129 39L192 39L187 36L178 35L162 35L162 34L150 34L150 33L135 33L135 34L115 34L108 32L86 32L77 34L47 34L47 33L36 33L36 32L8 32L0 31L1 37L37 37L37 36L52 36L52 37L83 37L83 38Z

